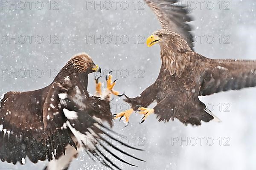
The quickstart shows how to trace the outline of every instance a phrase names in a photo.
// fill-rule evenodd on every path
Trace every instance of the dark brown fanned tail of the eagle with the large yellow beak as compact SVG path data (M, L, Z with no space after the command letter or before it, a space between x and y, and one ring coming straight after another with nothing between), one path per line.
M181 99L182 101L178 101ZM169 94L154 107L159 121L168 122L170 119L179 119L185 125L201 125L201 121L209 122L214 115L198 99L188 102L179 94Z

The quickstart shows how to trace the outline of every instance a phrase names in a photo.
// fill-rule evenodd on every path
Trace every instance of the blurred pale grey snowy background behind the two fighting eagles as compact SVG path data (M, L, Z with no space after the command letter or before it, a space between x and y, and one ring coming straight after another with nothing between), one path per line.
M143 1L128 0L127 9L123 0L117 1L116 7L113 1L108 1L112 3L110 7L100 0L90 3L85 0L52 0L45 1L42 8L41 3L33 1L31 9L29 3L25 9L21 3L9 9L9 3L14 4L14 1L5 1L8 6L3 0L0 2L0 93L43 88L52 82L67 60L79 52L87 52L93 57L103 74L108 69L117 69L113 74L118 79L116 90L125 91L128 96L137 96L157 78L160 47L148 48L144 42L160 28L160 24ZM96 3L102 3L102 6L95 6ZM210 58L256 59L255 0L203 1L202 6L198 1L187 3L194 9L195 21L191 24L197 36L195 50L198 53ZM10 39L15 35L16 42ZM94 36L102 36L102 42L96 40L95 43ZM90 92L94 92L93 77L89 77ZM141 116L132 115L130 125L123 128L122 122L116 121L114 129L128 136L129 144L134 145L137 139L136 147L146 149L144 152L127 149L147 162L128 158L139 167L125 165L122 168L256 169L255 93L256 88L248 88L200 97L222 123L186 127L177 120L159 123L152 115L139 125ZM127 105L122 103L122 98L113 100L113 113L126 109ZM46 163L28 161L22 166L1 162L0 170L41 170ZM70 170L78 169L105 167L94 164L86 153L81 153L70 167Z

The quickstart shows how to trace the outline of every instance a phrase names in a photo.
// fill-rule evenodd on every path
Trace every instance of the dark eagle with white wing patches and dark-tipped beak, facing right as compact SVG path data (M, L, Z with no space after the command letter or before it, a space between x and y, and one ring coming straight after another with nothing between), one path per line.
M101 70L87 54L78 54L47 87L3 94L0 98L1 161L25 164L26 157L33 163L48 159L50 162L45 170L67 170L83 148L91 159L111 169L120 168L106 153L134 166L112 153L106 144L126 156L141 160L116 147L113 141L136 149L114 138L113 134L117 133L102 125L102 121L111 127L113 125L110 95L118 95L118 92L113 91L115 82L111 82L112 75L108 75L105 92L102 93L97 78L97 96L89 94L88 74L94 71Z

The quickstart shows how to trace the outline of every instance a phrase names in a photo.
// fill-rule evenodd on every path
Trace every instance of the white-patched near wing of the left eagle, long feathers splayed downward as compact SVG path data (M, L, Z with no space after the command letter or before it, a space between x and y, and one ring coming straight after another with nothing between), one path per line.
M119 169L106 156L107 153L119 161L134 165L120 159L108 147L126 156L141 160L116 147L112 142L130 146L111 136L110 133L116 133L100 122L100 120L106 120L112 123L113 116L110 112L109 101L100 100L97 97L89 96L87 93L83 94L76 85L54 83L46 98L43 116L50 159L52 156L58 157L64 153L64 147L70 144L75 148L83 147L92 159L94 157L104 166L110 168ZM109 139L112 142L109 142Z

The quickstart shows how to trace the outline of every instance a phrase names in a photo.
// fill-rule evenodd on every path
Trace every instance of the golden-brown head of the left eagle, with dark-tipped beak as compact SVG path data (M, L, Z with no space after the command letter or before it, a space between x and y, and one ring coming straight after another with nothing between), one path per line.
M92 58L86 53L73 56L63 69L72 71L73 73L90 74L95 71L101 72L101 68L94 64Z

